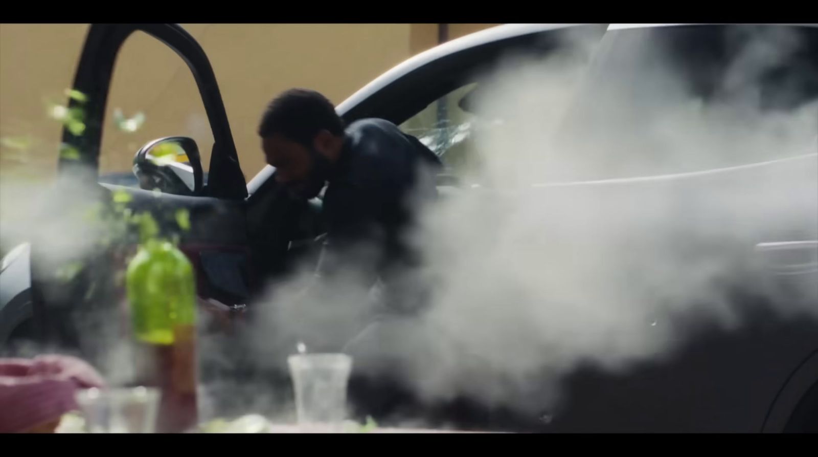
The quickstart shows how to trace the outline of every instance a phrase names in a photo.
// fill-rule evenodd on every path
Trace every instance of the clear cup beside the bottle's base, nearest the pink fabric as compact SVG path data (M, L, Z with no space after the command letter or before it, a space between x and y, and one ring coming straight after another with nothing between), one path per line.
M88 389L77 404L90 433L153 433L160 393L151 387Z

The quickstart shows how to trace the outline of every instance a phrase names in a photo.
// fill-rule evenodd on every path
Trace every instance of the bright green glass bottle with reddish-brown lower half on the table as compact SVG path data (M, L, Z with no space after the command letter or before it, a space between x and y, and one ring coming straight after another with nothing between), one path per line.
M196 281L173 243L143 242L126 275L142 385L159 387L157 432L196 426Z

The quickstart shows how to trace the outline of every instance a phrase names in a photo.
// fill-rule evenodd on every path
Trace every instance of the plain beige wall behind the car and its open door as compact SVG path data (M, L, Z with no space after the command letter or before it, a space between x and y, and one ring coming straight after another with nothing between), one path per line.
M490 25L452 24L449 37ZM192 24L213 65L231 122L242 170L251 178L262 166L255 133L258 115L276 93L314 88L341 102L371 79L416 52L432 48L436 24L229 25ZM48 120L43 97L63 100L88 25L0 25L0 137L36 141L20 154L0 148L3 172L51 174L60 126ZM115 129L113 111L142 111L135 133ZM146 35L128 38L115 70L101 154L102 172L128 171L133 152L160 136L195 138L209 160L212 137L187 66Z

